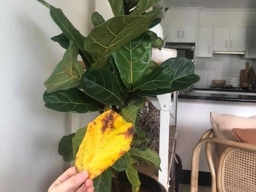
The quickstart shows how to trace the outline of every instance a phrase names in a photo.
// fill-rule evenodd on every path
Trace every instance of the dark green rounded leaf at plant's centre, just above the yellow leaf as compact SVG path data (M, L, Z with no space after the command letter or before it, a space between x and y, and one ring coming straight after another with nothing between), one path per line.
M108 105L121 105L121 93L117 77L106 68L89 69L81 79L83 91L90 97Z

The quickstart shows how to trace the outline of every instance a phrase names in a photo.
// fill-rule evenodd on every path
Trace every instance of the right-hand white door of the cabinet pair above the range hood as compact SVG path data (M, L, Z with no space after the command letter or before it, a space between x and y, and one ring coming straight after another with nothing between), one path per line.
M246 28L230 28L229 51L245 51Z

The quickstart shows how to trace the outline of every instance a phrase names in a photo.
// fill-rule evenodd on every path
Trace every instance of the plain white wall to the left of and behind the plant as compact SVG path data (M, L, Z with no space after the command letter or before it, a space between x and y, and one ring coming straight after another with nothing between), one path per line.
M87 35L93 0L51 0ZM49 10L35 0L3 0L0 6L0 191L47 191L67 167L57 154L70 133L65 113L48 110L42 94L64 50Z

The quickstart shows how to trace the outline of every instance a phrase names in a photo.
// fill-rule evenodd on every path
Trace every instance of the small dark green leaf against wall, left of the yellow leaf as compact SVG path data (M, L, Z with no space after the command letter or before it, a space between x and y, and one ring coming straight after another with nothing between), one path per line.
M59 141L58 154L63 157L63 160L66 162L71 162L74 159L73 157L73 148L72 148L72 138L75 136L74 133L63 136Z

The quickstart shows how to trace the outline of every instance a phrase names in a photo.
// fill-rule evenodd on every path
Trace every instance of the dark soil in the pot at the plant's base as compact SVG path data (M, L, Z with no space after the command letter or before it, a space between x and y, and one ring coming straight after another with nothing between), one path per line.
M140 192L156 192L154 189L148 189L145 187L140 187ZM132 185L130 183L125 183L113 179L112 192L132 192Z

